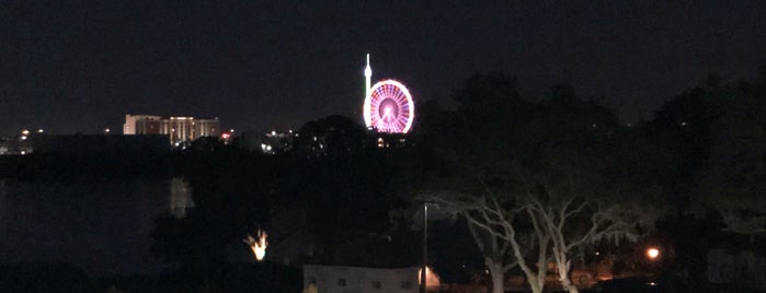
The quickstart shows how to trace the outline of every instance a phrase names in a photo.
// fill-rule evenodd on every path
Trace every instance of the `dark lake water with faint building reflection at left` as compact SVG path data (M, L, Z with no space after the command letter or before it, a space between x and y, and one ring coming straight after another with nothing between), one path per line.
M60 261L94 276L159 271L155 219L191 206L180 179L0 179L0 261Z

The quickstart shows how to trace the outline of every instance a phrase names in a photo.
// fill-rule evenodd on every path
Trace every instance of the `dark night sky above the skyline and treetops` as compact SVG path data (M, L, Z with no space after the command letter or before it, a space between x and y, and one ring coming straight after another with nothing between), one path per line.
M122 130L127 113L362 121L365 52L415 99L502 71L630 122L708 73L757 78L766 1L0 1L0 133Z

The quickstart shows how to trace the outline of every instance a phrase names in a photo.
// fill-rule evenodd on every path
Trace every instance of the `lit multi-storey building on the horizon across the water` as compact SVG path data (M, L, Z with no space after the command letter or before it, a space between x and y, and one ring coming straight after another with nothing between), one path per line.
M163 117L125 115L123 134L168 134L171 144L194 141L202 137L218 137L220 122L215 118Z

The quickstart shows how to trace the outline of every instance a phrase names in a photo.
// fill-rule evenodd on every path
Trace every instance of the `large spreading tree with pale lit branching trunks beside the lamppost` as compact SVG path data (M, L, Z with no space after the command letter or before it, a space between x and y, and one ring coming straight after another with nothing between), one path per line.
M529 108L536 109L534 115L508 124L508 139L477 139L478 148L494 145L454 161L458 172L446 174L447 180L457 175L473 178L472 185L439 181L442 191L436 187L426 197L492 236L475 234L480 246L488 245L483 253L493 292L502 292L503 274L515 263L533 291L541 292L551 259L562 286L576 292L569 279L575 248L607 239L636 241L651 230L662 209L640 203L651 203L644 200L658 189L624 172L628 166L615 150L619 127L609 110L581 101L571 86L553 87L551 99ZM492 246L488 239L502 243ZM514 261L502 257L508 251Z

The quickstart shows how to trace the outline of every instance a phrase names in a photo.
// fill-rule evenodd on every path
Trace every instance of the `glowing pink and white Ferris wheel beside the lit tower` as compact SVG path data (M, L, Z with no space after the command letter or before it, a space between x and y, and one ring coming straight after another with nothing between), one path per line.
M367 127L380 132L407 133L415 118L410 91L395 80L376 83L365 98L364 118Z

